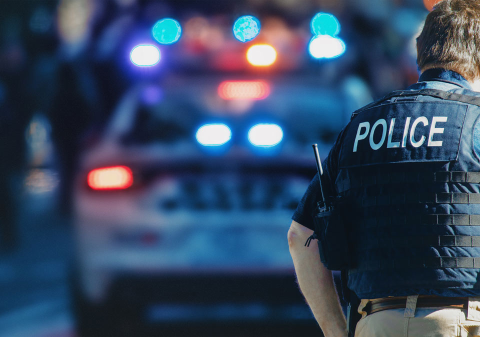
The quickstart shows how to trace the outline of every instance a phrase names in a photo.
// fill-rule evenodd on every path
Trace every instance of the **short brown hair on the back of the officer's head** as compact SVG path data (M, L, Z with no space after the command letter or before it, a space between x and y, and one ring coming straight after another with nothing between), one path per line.
M467 80L480 77L480 1L442 0L416 38L419 69L443 67Z

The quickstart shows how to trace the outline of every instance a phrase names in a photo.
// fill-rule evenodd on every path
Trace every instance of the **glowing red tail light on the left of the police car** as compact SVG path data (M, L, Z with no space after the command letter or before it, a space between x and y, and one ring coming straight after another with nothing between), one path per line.
M92 189L125 189L133 183L133 174L127 166L110 166L92 169L87 176Z

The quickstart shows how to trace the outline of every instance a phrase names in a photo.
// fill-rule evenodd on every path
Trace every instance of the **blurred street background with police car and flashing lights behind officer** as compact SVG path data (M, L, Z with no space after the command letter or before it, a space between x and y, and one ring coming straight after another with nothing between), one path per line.
M0 335L319 335L286 232L430 0L0 1Z

